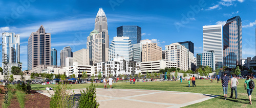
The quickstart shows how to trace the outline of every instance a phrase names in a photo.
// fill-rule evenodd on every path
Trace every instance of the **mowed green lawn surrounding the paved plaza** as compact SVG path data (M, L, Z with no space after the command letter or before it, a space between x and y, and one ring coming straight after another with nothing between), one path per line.
M146 89L146 90L163 90L163 91L180 91L180 92L192 92L192 93L202 93L202 94L212 94L219 95L219 97L212 98L203 102L196 104L188 105L186 107L256 107L256 92L252 92L252 105L248 104L248 95L246 90L244 90L244 81L245 79L239 80L238 90L238 99L227 98L224 100L222 84L217 83L217 80L214 80L214 83L210 83L210 80L196 80L197 87L192 87L190 83L190 88L188 88L187 80L183 80L182 83L179 81L172 82L136 82L135 85L128 83L113 83L114 89ZM97 88L103 88L103 84L96 84ZM46 87L55 88L56 85L32 85L32 90L45 90ZM90 86L90 84L78 84L72 85L71 89L82 89ZM109 88L109 85L107 85ZM228 88L228 97L230 96L231 89L230 83ZM233 93L233 97L235 97ZM181 96L182 98L182 96ZM185 99L185 98L184 98Z

